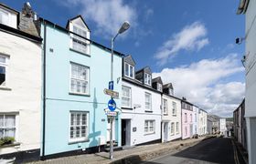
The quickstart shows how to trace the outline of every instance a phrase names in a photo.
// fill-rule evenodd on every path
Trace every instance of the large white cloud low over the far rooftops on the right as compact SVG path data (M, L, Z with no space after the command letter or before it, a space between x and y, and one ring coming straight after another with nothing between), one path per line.
M245 84L221 80L241 73L240 59L232 54L219 59L203 59L189 66L164 68L153 77L172 82L177 97L187 97L200 108L222 117L231 116L244 97Z

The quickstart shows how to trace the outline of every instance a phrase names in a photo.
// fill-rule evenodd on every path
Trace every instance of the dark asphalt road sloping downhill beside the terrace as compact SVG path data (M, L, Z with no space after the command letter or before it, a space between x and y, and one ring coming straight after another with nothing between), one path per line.
M210 138L176 154L144 162L144 164L245 164L231 138Z

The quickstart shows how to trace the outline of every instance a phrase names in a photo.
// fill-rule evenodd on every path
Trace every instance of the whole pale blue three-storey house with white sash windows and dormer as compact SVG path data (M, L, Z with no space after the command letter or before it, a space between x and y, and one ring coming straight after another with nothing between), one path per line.
M111 79L111 50L90 40L79 15L66 28L40 19L43 41L41 157L90 153L105 145L110 125L104 109L110 96L103 90ZM114 90L121 93L122 54L114 52ZM120 99L115 99L121 107ZM121 143L120 116L113 140ZM102 147L102 146L101 146Z

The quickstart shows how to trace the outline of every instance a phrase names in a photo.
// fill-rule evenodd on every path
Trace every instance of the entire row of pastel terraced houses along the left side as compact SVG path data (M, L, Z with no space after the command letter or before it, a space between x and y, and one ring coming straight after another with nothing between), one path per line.
M29 6L29 5L28 5ZM91 40L82 16L66 27L24 6L0 4L0 159L50 159L103 149L111 49ZM116 147L207 134L207 112L174 95L172 83L113 52ZM135 71L137 70L137 71ZM9 140L8 140L9 139ZM7 141L6 141L7 140Z

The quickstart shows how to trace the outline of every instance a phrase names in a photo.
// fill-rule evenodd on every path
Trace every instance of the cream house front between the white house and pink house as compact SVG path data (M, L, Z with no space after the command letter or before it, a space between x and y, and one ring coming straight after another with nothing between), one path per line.
M164 101L167 103L165 107ZM164 112L166 108L166 112ZM162 96L162 142L181 138L181 101L176 97Z

